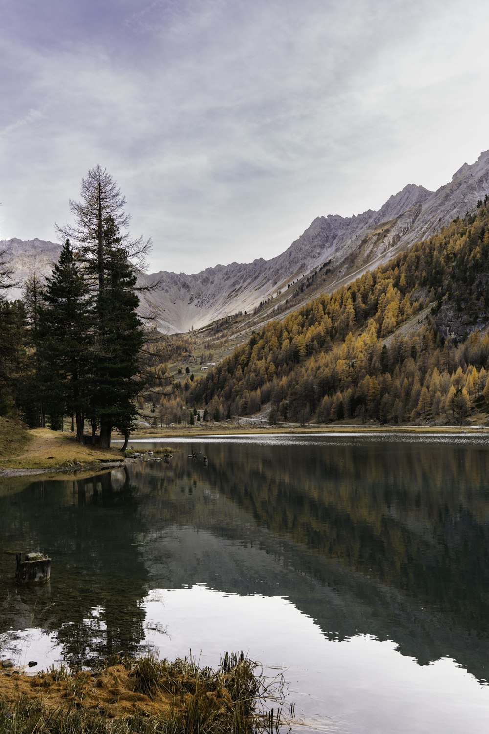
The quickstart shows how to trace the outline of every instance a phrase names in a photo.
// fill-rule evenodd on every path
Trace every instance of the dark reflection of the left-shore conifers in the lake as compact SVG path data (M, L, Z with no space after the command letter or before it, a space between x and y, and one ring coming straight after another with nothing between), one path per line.
M143 528L136 495L127 471L119 478L106 472L34 482L9 507L12 542L54 559L50 593L40 599L37 589L21 588L18 598L34 625L56 633L72 664L133 650L144 636L147 572L137 545Z

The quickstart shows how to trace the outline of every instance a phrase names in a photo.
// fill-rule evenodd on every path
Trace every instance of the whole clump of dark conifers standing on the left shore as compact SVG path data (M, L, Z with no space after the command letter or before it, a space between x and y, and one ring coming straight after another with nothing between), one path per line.
M90 169L81 200L70 200L75 225L57 227L59 262L42 283L29 277L24 298L7 302L10 269L0 268L0 415L29 426L62 426L108 448L111 431L126 438L136 417L143 344L134 264L149 242L130 239L125 197L106 170Z

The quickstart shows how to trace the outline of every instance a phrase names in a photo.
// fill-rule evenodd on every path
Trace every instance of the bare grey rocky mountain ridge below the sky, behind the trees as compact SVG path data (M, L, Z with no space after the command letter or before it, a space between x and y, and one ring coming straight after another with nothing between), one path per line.
M293 302L293 308L298 308L315 293L331 292L339 284L349 283L414 241L426 239L452 219L463 217L488 191L486 150L476 163L464 163L452 181L435 192L410 183L389 197L379 211L368 210L353 217L317 217L287 250L271 260L216 265L193 275L141 273L143 286L158 281L157 288L142 294L141 310L155 314L163 333L203 327L233 313L251 312L264 302L265 311L273 316L273 309L282 305L283 310L292 295L292 291L287 293L288 286L297 281L304 286L306 280L307 286L312 285L308 276L327 264L312 290L299 288ZM49 261L59 252L59 245L37 239L12 239L1 242L1 248L12 253L12 264L21 280L34 269L48 270Z

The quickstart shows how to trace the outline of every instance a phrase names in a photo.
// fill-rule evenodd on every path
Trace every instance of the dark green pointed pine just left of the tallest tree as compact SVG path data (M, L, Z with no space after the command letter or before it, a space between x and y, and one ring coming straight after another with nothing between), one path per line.
M76 440L84 443L84 417L89 404L89 368L93 349L93 300L70 241L41 293L37 352L45 410L51 426L63 415L75 415Z

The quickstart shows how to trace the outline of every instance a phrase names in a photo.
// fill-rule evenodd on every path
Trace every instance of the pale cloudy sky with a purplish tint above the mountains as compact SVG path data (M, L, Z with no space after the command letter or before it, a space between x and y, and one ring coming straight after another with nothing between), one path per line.
M100 164L149 270L273 258L489 148L486 0L0 0L0 239Z

